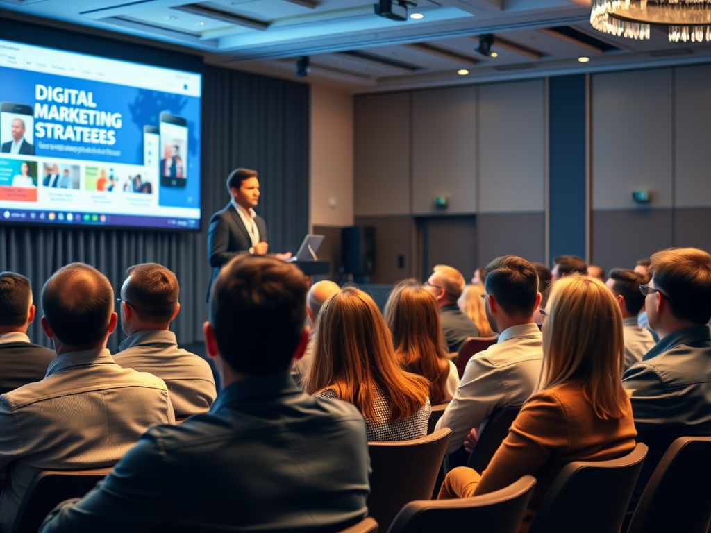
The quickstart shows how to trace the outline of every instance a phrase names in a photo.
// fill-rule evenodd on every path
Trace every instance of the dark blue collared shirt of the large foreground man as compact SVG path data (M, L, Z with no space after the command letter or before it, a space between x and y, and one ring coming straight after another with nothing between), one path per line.
M340 531L368 512L370 460L353 405L286 373L223 389L210 411L156 426L43 533Z

